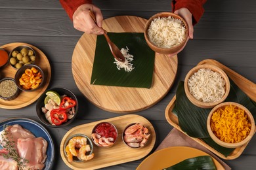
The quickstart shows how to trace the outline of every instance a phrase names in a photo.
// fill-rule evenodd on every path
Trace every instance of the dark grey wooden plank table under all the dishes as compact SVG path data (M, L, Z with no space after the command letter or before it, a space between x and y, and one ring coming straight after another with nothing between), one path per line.
M171 0L95 0L94 3L102 9L104 18L133 15L148 19L157 12L171 10ZM204 7L202 19L194 27L194 40L189 41L178 55L178 73L170 92L150 109L136 113L153 124L157 135L155 148L173 128L165 120L165 108L175 95L179 80L184 80L186 73L203 59L216 59L251 82L256 82L256 1L212 0ZM79 106L79 115L74 123L63 128L46 127L56 144L53 169L69 169L58 152L60 141L69 129L80 124L121 116L98 109L89 103L75 85L71 60L75 44L82 34L74 29L58 1L0 1L0 45L26 42L37 46L51 63L52 79L49 88L68 88L79 99L81 107ZM14 117L31 118L39 122L35 103L22 109L0 109L0 121ZM224 161L233 169L255 169L255 143L256 137L253 137L239 158ZM136 169L142 160L105 169Z

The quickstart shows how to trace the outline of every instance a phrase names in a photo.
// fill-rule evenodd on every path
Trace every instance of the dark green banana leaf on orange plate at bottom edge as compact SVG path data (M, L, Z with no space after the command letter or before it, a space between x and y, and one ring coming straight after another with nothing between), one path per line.
M211 156L198 156L194 158L188 158L181 161L171 167L164 168L163 170L173 170L173 169L216 169L215 164Z

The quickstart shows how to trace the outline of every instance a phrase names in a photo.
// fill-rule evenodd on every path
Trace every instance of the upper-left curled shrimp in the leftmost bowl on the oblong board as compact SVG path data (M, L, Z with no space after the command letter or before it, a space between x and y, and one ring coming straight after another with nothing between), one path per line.
M75 148L81 148L82 145L87 144L87 139L85 137L73 137L68 142L68 146L70 148L70 152L72 155L77 156L77 152Z

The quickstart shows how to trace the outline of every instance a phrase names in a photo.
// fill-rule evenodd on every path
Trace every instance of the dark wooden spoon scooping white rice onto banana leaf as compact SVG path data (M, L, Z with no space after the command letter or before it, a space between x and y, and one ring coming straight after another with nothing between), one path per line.
M90 14L91 18L93 18L93 20L95 21L95 24L96 24L95 14L93 14L93 12L91 10L89 10L89 14ZM114 58L116 58L120 62L124 62L125 61L125 57L120 52L120 50L116 46L116 44L114 44L114 42L112 42L110 40L110 37L108 37L108 35L107 35L108 32L105 29L103 29L103 30L104 30L104 36L106 38L106 41L108 42L108 46L110 46L110 51L112 52Z

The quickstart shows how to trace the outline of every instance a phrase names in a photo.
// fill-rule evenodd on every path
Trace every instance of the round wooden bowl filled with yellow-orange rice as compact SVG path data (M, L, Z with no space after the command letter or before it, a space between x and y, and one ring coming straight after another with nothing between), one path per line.
M225 102L209 113L207 131L215 143L226 148L237 148L251 140L255 121L251 112L243 105Z

